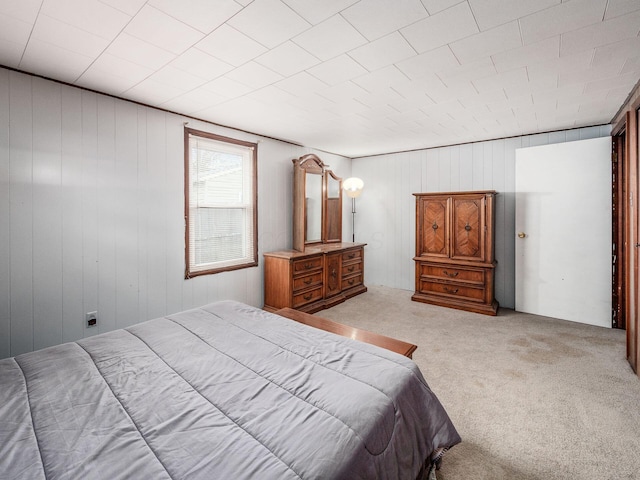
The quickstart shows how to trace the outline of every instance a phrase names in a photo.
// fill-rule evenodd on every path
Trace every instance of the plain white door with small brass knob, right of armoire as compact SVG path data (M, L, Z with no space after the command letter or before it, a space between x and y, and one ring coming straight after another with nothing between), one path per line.
M516 310L611 327L611 138L516 151Z

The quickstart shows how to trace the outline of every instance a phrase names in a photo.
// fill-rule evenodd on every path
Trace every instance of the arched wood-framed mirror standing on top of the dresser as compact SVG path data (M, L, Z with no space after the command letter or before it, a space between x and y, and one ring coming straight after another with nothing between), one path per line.
M342 241L342 179L317 155L293 160L293 248Z

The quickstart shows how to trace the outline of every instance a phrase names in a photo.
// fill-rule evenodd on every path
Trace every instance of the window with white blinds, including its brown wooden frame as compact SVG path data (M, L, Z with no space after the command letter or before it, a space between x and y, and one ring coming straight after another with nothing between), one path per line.
M185 128L185 278L258 264L257 151Z

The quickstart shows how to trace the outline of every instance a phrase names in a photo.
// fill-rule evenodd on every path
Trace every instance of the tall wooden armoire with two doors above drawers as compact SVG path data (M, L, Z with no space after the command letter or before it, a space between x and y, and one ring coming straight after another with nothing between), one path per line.
M418 302L496 315L493 190L414 193Z

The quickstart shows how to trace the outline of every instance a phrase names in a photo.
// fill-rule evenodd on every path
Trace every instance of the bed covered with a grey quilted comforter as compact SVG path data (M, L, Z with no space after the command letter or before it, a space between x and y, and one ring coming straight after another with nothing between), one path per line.
M0 478L416 479L460 441L416 364L224 301L0 360Z

